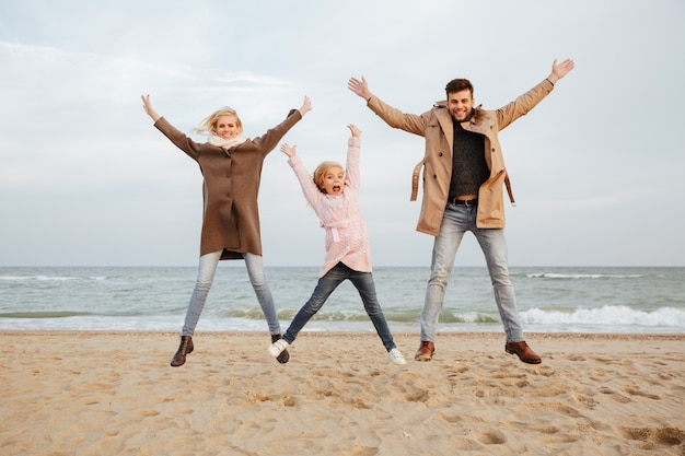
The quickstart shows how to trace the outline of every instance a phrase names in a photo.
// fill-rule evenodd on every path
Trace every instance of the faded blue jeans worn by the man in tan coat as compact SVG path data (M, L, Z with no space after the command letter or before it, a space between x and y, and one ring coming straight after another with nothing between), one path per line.
M519 321L516 297L513 284L509 278L507 266L507 239L503 229L479 229L476 226L477 206L448 204L440 234L433 244L433 256L430 267L430 279L426 289L426 301L421 312L421 340L436 340L436 325L448 288L456 250L464 237L471 231L478 241L480 249L490 273L495 301L500 318L504 326L508 342L523 340L523 330Z

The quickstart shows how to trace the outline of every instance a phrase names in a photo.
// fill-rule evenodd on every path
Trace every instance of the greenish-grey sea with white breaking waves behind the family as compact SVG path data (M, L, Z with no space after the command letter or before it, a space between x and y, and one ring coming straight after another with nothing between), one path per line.
M197 326L266 331L244 265L221 264ZM267 267L285 330L311 295L318 267ZM685 334L685 268L511 267L526 332ZM181 331L195 267L0 267L0 330ZM394 332L418 332L428 267L375 267L379 301ZM304 331L373 331L344 282ZM455 267L440 332L498 332L485 267Z

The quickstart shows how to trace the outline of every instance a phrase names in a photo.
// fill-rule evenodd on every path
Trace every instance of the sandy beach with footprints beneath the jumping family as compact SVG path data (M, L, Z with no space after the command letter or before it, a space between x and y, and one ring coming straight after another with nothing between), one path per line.
M0 332L2 455L685 455L685 335Z

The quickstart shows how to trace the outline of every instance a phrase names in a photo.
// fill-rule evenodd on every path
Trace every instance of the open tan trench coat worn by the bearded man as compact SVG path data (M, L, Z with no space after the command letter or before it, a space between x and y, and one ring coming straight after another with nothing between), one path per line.
M478 227L504 227L503 185L508 184L509 176L504 166L498 132L519 117L527 114L553 89L552 82L544 80L499 109L486 110L478 106L473 118L467 122L462 122L464 129L485 136L485 160L490 168L490 177L480 186L478 191L478 214L476 217ZM452 177L454 127L446 103L440 102L420 116L404 114L375 96L371 97L368 106L391 127L426 138L423 160L417 165L414 176L414 186L416 187L420 166L425 166L423 200L416 230L438 236L448 203ZM413 189L411 200L415 198L416 188ZM510 198L513 202L511 192Z

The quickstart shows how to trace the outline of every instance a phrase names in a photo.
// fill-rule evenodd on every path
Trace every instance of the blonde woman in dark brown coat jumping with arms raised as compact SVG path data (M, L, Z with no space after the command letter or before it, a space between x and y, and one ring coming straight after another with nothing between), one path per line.
M255 139L243 136L243 124L235 110L231 108L217 110L196 130L209 135L205 143L190 140L160 116L152 108L150 95L143 95L141 98L143 108L154 121L154 126L200 165L204 176L205 210L200 237L200 262L181 331L181 344L171 365L174 367L183 365L186 362L186 354L193 352L193 335L207 301L219 260L245 260L249 282L266 317L271 342L275 342L280 339L280 324L262 264L262 237L257 207L259 178L266 155L274 150L288 130L312 109L310 98L304 97L300 109L292 109L286 120ZM288 359L287 351L278 356L280 363L287 363Z

